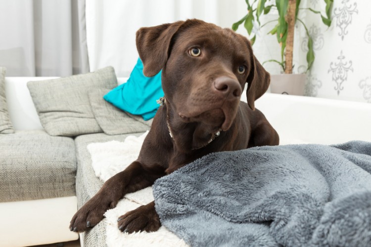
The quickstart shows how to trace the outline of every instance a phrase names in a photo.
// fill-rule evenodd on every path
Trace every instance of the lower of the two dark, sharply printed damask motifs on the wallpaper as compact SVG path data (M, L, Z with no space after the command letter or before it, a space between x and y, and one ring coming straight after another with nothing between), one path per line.
M340 56L337 57L338 62L331 62L330 68L327 71L327 73L332 72L332 81L336 83L334 89L337 91L337 95L344 89L342 83L347 81L348 71L353 72L352 61L344 62L344 59L345 56L343 55L343 51L341 51Z

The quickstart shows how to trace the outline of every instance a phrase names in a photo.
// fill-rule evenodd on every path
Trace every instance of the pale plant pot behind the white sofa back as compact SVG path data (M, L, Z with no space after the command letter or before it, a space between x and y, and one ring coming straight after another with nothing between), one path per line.
M290 95L304 95L305 74L271 75L271 92Z

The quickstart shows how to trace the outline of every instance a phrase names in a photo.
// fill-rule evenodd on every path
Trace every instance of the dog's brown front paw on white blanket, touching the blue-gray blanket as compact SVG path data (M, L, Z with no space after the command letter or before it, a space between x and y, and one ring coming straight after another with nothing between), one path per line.
M154 232L161 226L154 202L127 212L120 216L117 222L119 230L127 233L139 231Z

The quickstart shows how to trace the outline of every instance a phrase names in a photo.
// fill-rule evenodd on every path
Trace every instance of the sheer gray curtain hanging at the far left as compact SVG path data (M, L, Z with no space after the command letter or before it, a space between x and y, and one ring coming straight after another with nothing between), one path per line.
M89 71L85 0L0 0L0 30L7 76Z

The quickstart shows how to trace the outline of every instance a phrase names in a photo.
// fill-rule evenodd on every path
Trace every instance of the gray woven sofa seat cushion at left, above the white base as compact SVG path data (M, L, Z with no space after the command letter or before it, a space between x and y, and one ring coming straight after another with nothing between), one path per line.
M0 202L76 195L74 140L44 130L0 137Z

